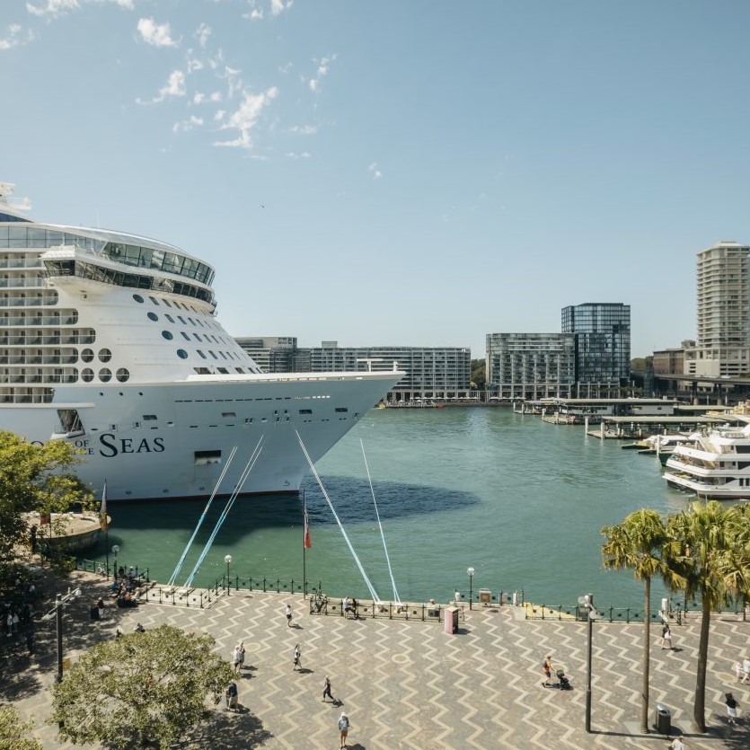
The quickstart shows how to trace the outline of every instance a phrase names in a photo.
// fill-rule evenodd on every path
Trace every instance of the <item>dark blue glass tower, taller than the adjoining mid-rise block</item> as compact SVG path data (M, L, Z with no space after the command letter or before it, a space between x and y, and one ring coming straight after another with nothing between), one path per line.
M630 304L563 307L562 332L575 335L577 383L627 384L631 375Z

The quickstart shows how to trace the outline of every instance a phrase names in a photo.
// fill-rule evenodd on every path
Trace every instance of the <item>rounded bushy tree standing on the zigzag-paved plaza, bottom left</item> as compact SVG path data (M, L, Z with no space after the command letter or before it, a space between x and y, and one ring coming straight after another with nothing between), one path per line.
M168 747L211 715L207 696L218 703L233 679L215 644L171 625L99 643L55 685L49 723L63 722L60 738L75 744Z

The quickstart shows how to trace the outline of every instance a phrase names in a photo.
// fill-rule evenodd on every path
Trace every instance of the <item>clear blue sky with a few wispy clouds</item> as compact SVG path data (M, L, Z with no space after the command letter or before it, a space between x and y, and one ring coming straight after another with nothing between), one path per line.
M3 0L0 180L181 246L235 336L466 346L750 242L746 0Z

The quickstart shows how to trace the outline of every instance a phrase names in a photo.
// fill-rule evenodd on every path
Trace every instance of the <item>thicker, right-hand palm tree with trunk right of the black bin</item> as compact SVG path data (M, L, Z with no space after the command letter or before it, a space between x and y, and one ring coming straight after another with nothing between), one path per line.
M709 653L710 613L728 602L725 584L732 545L728 511L716 500L694 502L690 511L669 516L666 522L672 537L666 561L674 571L675 587L685 599L701 598L701 634L695 677L693 727L706 731L706 665Z

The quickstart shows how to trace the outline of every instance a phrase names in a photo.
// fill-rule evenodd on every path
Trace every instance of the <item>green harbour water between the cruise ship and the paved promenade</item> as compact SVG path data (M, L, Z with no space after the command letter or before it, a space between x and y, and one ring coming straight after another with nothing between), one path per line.
M480 588L523 590L536 604L569 606L591 592L599 606L636 609L642 587L629 571L603 569L600 529L639 507L671 513L689 500L666 488L656 457L507 408L372 410L316 468L384 600L395 596L373 494L402 600L446 602L456 589L468 595L466 570L472 567L475 595ZM321 581L330 595L370 598L312 475L304 490L312 537L305 553L309 585ZM112 504L109 545L119 545L119 564L147 566L165 582L205 507L205 500ZM210 508L179 585L224 507L215 501ZM103 549L101 540L100 559ZM233 577L300 582L301 499L238 500L193 584L207 587L221 578L226 554ZM655 603L662 594L655 583Z

